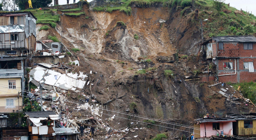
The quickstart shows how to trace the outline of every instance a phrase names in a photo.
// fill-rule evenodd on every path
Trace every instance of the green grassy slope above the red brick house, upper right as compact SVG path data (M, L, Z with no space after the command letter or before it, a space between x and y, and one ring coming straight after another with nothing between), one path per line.
M246 14L234 7L228 7L224 4L221 12L213 8L212 0L197 0L196 4L200 6L199 19L208 19L203 21L204 38L213 36L227 35L247 35L255 33L255 27L250 30L251 23L255 23L256 17L253 14ZM192 16L191 14L188 14ZM191 20L191 23L200 24L199 20ZM248 28L249 27L249 28Z

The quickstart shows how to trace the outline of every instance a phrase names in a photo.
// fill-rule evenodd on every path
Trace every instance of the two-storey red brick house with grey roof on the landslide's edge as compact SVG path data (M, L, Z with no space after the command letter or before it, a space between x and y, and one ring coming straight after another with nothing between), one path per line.
M216 65L221 82L256 80L256 38L254 36L213 37L203 43L207 59Z

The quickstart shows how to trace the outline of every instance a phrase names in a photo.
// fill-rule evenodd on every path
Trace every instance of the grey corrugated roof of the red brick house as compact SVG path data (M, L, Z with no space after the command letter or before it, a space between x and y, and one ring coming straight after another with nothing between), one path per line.
M213 37L212 39L216 42L256 42L256 38L252 35Z

